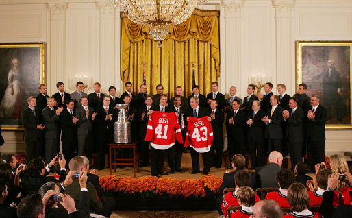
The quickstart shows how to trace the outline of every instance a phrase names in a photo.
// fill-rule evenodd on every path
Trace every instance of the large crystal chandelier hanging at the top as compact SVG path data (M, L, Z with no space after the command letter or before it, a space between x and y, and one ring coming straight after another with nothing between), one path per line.
M168 35L168 26L186 21L194 8L207 0L112 0L134 23L150 27L149 35L161 41Z

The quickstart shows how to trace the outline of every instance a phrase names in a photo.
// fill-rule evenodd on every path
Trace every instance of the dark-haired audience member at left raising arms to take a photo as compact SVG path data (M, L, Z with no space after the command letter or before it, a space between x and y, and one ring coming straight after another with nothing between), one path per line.
M47 182L56 182L55 177L47 176L50 167L52 167L56 161L59 161L61 168L65 169L66 160L64 158L60 160L58 155L56 155L47 166L45 166L45 162L42 158L34 158L29 161L27 174L23 175L21 180L23 196L38 193L40 186Z

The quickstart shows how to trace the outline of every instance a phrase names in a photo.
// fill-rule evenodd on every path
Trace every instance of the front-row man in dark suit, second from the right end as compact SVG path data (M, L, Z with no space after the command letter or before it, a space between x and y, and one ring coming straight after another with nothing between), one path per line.
M302 144L304 140L303 117L304 113L298 107L297 97L291 97L290 110L284 110L282 116L287 122L286 141L288 141L292 168L302 162Z

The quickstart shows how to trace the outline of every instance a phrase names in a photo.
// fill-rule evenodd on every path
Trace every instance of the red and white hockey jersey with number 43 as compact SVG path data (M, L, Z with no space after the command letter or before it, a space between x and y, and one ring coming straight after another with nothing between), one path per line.
M189 117L184 147L192 147L199 153L210 151L214 136L212 124L208 117L196 118Z

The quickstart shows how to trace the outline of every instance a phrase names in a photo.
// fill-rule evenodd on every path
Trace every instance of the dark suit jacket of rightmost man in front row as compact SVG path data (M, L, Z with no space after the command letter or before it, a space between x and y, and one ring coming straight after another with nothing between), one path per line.
M312 110L312 106L308 108ZM327 109L319 104L314 112L315 119L307 119L307 138L311 141L325 140L325 123L327 121Z

